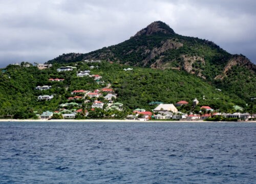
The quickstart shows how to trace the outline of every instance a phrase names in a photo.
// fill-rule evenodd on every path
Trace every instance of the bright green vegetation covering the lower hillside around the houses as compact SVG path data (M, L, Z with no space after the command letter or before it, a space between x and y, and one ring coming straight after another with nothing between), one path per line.
M91 70L91 74L98 74L103 77L104 85L97 84L90 77L76 77L77 71L58 73L56 68L60 65L54 63L52 67L45 70L38 70L36 66L25 67L18 65L8 65L6 72L0 72L0 116L14 115L15 118L33 118L38 111L59 110L60 104L67 103L73 90L95 90L103 88L107 84L117 93L115 102L124 104L124 112L115 112L116 118L121 118L127 112L132 112L135 108L151 110L155 106L148 105L152 101L162 101L164 103L176 103L186 100L189 105L179 108L187 112L192 110L192 101L197 98L199 105L209 105L221 111L232 110L233 105L240 105L256 111L253 103L246 106L246 102L231 92L216 90L207 81L178 70L156 70L150 68L133 67L132 71L124 71L125 65L117 63L101 62L91 63L68 63L77 67L77 70L90 70L90 65L98 65L99 68ZM48 81L50 78L65 79L63 82ZM51 85L49 90L35 90L36 86ZM50 101L38 101L39 95L54 95ZM205 96L205 100L203 100ZM104 101L102 97L98 98ZM82 107L90 110L92 102L84 103L83 100L76 100ZM199 106L198 106L199 107ZM197 107L197 108L198 108ZM81 107L68 107L67 109L77 109ZM194 109L197 111L198 109ZM90 114L91 117L101 118L102 113L97 111ZM94 114L95 113L95 114ZM101 115L100 115L101 114ZM95 116L94 116L95 115ZM89 116L89 117L90 117ZM111 112L109 112L111 116ZM60 118L60 117L55 117Z

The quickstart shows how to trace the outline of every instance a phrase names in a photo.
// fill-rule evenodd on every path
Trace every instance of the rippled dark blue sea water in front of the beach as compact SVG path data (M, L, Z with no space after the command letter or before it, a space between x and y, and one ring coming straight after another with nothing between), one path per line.
M256 123L0 122L0 183L256 183Z

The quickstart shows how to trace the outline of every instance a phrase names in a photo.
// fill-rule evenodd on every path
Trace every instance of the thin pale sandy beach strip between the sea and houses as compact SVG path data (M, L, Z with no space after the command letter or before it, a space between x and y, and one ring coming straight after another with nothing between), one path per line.
M166 122L166 123L179 123L179 122L216 122L216 121L138 121L138 120L105 120L105 119L88 119L88 120L74 120L74 119L61 119L61 120L16 120L16 119L0 119L0 122ZM233 123L233 122L221 122L217 121L219 123ZM243 123L256 123L256 121L238 121L238 122L243 122Z

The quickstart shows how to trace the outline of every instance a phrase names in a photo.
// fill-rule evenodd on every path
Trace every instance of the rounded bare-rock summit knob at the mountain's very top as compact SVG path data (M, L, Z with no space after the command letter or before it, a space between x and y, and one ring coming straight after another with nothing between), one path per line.
M148 36L155 33L164 33L164 34L172 34L172 35L175 34L174 30L170 28L168 25L166 25L164 22L154 21L150 25L148 25L146 28L137 32L134 36L141 36L141 35Z

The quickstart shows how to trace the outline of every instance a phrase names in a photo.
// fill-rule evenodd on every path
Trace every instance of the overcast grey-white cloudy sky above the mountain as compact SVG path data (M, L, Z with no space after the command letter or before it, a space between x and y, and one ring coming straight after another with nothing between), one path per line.
M255 0L0 0L0 67L129 39L161 20L256 63Z

